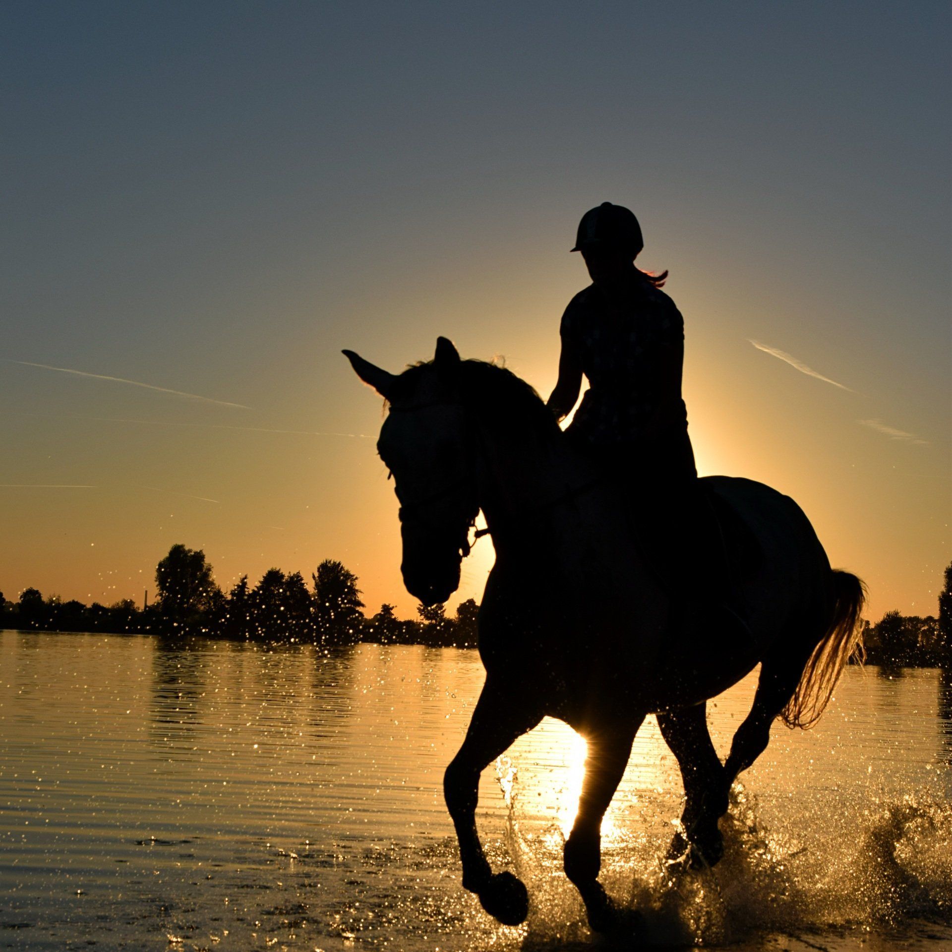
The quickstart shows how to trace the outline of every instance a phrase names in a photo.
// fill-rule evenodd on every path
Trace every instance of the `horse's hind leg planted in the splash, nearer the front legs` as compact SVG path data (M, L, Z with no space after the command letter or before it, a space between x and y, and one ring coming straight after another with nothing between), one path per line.
M724 855L718 820L727 811L724 765L707 730L706 704L661 711L658 726L664 741L678 758L684 781L681 829L671 841L668 857L690 850L692 863L713 866Z

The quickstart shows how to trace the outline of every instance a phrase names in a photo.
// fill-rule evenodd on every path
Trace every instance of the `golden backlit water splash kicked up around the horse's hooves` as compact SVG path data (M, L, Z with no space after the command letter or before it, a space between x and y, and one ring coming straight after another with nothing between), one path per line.
M506 834L532 896L524 948L590 942L584 908L562 873L557 826L521 826L515 770L498 766L509 805ZM939 797L844 803L836 822L768 823L758 798L735 784L722 820L724 860L685 871L667 843L633 832L603 850L602 880L637 910L629 940L664 947L723 946L768 936L841 944L843 936L938 927L952 942L952 804ZM803 817L801 817L803 819ZM808 940L804 936L811 937Z

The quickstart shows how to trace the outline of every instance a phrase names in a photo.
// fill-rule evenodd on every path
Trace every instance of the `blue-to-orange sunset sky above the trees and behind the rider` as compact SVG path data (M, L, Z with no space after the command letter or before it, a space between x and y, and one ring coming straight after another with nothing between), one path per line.
M586 209L684 314L702 474L803 507L868 615L952 559L944 3L0 8L0 591L339 559L411 617L382 402L450 337L547 396ZM480 598L482 540L449 603Z

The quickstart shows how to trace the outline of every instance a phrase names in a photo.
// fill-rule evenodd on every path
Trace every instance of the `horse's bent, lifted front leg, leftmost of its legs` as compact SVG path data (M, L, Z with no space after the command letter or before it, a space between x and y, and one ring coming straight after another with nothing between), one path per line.
M542 717L519 706L519 691L504 692L486 682L473 710L466 740L446 767L443 790L456 827L463 861L463 886L479 896L483 908L499 922L518 925L528 913L526 886L512 873L495 876L476 829L479 776L516 738Z

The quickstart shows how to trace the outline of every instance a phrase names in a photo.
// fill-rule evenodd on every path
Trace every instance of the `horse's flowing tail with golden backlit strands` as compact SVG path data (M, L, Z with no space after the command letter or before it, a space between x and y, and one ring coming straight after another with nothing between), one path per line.
M850 658L860 664L866 657L860 613L866 601L866 586L851 572L833 569L836 602L833 618L820 644L813 649L803 668L793 697L780 712L788 727L812 727L833 696L843 665Z

